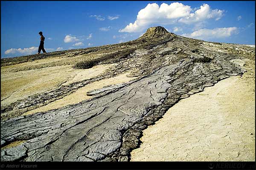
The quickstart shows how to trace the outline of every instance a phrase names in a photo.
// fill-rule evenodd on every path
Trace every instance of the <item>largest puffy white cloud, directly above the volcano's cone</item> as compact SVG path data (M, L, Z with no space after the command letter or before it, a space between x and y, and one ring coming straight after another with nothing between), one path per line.
M192 13L191 13L192 12ZM177 22L192 24L202 22L207 19L219 20L224 14L223 10L212 10L208 4L200 6L193 12L190 6L182 3L162 3L160 7L157 3L149 3L137 14L137 20L130 23L119 32L141 32L151 24L169 25Z

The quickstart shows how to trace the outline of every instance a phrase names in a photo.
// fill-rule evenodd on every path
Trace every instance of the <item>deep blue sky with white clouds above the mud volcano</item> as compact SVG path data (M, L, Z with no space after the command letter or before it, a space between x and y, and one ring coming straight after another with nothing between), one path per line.
M1 1L1 58L126 42L150 26L255 45L255 1Z

